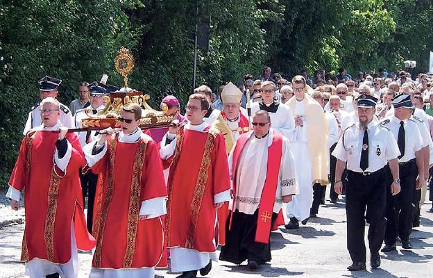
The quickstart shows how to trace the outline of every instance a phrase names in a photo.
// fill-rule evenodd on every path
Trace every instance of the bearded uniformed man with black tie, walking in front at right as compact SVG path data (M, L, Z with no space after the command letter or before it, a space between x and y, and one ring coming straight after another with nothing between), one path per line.
M391 194L400 192L398 145L389 129L373 121L376 102L377 99L371 95L358 98L359 122L344 131L332 152L337 158L335 191L338 194L341 194L341 177L347 163L347 247L353 261L348 266L350 271L366 269L365 221L370 224L368 243L371 267L380 266L379 250L387 222L385 202L391 183L390 174L393 179Z

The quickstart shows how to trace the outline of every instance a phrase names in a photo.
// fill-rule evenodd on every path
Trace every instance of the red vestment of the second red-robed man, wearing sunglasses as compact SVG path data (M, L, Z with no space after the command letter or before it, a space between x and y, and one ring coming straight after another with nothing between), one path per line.
M105 156L93 167L99 175L93 234L94 268L143 268L157 265L164 252L160 217L138 220L143 201L167 196L161 158L145 134L138 142L113 135Z

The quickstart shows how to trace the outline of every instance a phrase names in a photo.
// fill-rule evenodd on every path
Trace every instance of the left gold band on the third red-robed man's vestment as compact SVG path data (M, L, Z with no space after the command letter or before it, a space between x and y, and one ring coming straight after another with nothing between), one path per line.
M180 127L178 132L176 133L176 153L174 154L173 161L171 162L171 170L175 171L176 167L178 165L180 151L182 150L182 141L183 136L185 134L184 126ZM167 181L167 194L169 195L169 199L167 200L167 215L165 218L165 229L164 234L165 238L167 240L167 247L171 245L170 243L170 224L171 224L171 198L172 198L172 191L173 191L173 177L174 174L169 174L169 179Z

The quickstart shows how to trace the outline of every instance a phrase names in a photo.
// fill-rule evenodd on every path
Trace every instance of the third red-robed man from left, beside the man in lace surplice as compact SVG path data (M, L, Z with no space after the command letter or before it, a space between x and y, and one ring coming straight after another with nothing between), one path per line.
M230 177L222 134L203 121L209 101L189 97L189 123L170 128L160 155L170 166L167 190L166 240L171 271L181 278L207 275L217 260L217 209L230 200ZM223 227L221 229L224 229Z

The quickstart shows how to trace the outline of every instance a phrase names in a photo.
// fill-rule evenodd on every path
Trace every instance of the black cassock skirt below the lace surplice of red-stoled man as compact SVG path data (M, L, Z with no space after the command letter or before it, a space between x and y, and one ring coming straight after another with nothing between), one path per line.
M271 245L255 242L255 231L257 229L257 209L253 215L233 213L232 229L228 229L230 215L226 222L226 245L221 247L219 259L241 264L245 260L255 261L258 264L271 261ZM272 224L277 219L277 213L272 213ZM271 231L269 231L271 236Z

